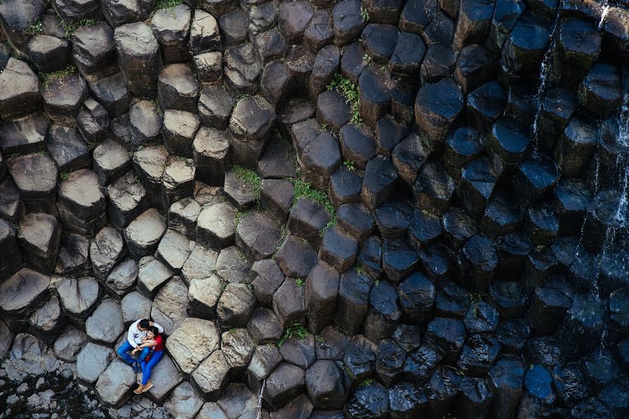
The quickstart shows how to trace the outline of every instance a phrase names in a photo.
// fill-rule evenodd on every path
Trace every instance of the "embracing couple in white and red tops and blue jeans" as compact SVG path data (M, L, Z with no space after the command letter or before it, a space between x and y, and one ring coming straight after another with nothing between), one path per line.
M151 371L164 356L164 345L166 344L161 333L164 333L164 328L160 325L146 318L140 318L131 325L129 334L126 335L126 341L118 348L120 358L131 365L134 372L142 372L142 383L136 390L133 390L136 395L147 392L153 387L150 381ZM134 356L138 352L140 356L136 359Z

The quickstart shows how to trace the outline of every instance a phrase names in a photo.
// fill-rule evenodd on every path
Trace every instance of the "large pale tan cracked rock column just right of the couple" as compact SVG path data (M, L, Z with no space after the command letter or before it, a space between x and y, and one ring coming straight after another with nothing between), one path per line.
M166 341L175 365L190 374L219 347L219 332L211 321L186 318Z

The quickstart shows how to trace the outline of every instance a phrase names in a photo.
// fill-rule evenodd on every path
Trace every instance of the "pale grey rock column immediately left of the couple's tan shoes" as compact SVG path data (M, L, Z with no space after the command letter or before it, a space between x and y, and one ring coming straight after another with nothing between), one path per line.
M131 365L113 360L96 381L96 396L105 406L120 408L131 396L131 387L136 383L136 373Z

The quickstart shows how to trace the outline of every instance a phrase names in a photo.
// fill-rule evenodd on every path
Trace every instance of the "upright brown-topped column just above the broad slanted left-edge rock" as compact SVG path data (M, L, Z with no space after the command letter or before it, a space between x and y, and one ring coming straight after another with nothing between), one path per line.
M51 274L55 269L61 225L54 216L31 212L24 216L17 231L24 265Z

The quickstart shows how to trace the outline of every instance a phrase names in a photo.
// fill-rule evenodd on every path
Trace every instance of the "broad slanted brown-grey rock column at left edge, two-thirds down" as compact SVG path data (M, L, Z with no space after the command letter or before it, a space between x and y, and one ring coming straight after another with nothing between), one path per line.
M50 278L24 267L0 284L0 311L15 332L24 330L29 316L48 295Z

